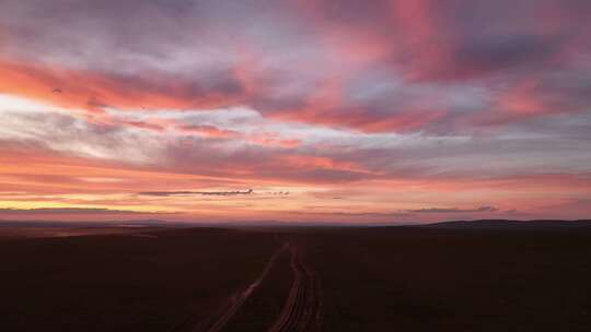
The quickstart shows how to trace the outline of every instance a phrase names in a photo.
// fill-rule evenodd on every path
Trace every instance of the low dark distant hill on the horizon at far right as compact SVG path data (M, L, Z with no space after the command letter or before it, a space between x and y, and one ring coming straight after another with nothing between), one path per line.
M507 220L479 220L479 221L454 221L442 222L420 227L427 228L444 228L444 229L571 229L571 228L590 228L591 220L580 221L507 221Z

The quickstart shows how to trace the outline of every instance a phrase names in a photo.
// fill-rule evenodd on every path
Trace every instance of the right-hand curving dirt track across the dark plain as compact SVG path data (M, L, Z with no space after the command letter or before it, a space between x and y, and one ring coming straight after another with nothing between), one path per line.
M320 330L321 298L315 274L305 265L302 253L291 247L293 282L283 310L269 332L309 332Z

